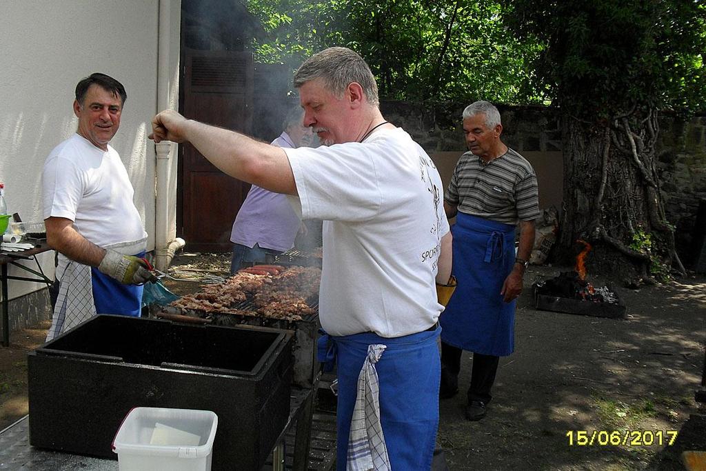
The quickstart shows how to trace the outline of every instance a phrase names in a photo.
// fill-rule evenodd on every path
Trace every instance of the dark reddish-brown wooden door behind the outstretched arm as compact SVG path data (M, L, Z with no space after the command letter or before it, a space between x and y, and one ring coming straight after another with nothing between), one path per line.
M184 52L181 111L189 119L250 134L253 56L249 52ZM225 251L250 185L222 173L191 144L180 145L181 237L194 251Z

